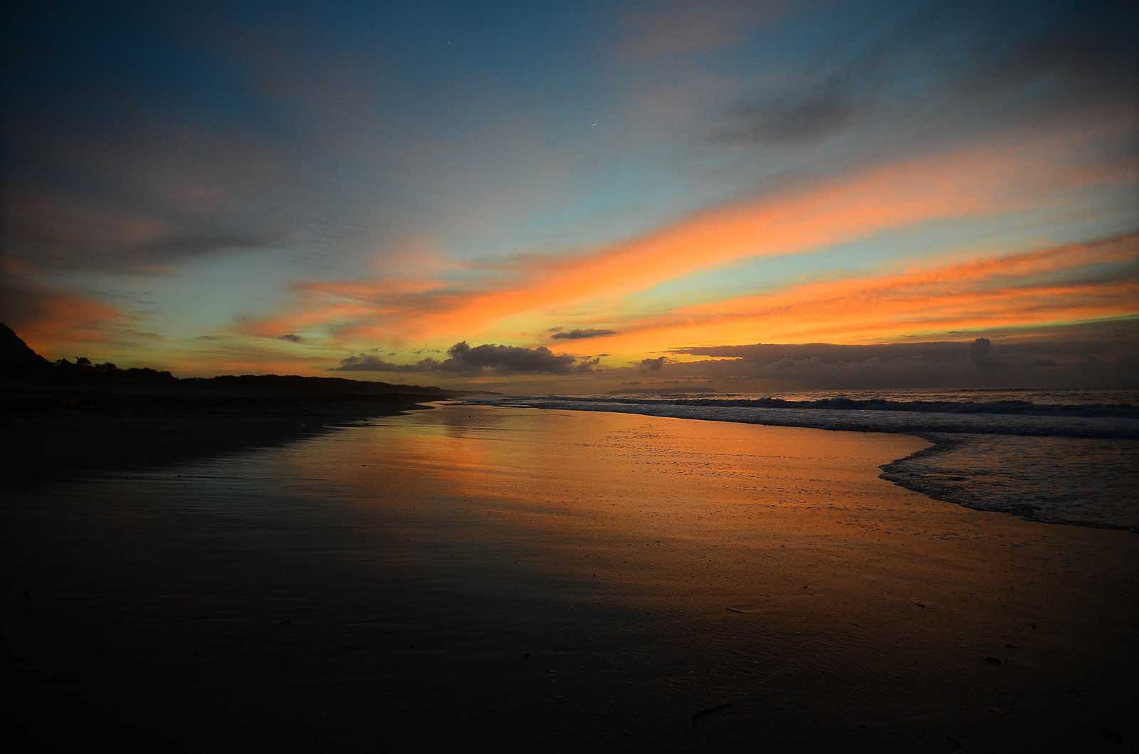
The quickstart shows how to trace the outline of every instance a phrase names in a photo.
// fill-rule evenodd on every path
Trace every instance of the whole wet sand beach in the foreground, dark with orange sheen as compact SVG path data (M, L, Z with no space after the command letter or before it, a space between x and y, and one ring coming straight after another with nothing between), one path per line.
M18 492L7 730L65 751L1133 746L1139 540L877 478L924 445L457 405Z

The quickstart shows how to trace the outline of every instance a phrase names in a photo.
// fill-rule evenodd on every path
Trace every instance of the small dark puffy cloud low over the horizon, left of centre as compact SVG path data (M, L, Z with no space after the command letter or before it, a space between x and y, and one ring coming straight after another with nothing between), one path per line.
M546 346L523 349L487 343L470 346L465 341L448 349L448 358L423 359L411 364L398 364L374 355L351 355L333 371L441 372L453 375L571 375L595 371L600 359L555 354Z

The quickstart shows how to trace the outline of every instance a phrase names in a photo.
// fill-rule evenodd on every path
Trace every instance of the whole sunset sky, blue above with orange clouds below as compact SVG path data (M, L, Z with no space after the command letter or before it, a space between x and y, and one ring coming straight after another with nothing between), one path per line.
M1134 15L31 3L0 319L179 376L1139 386Z

